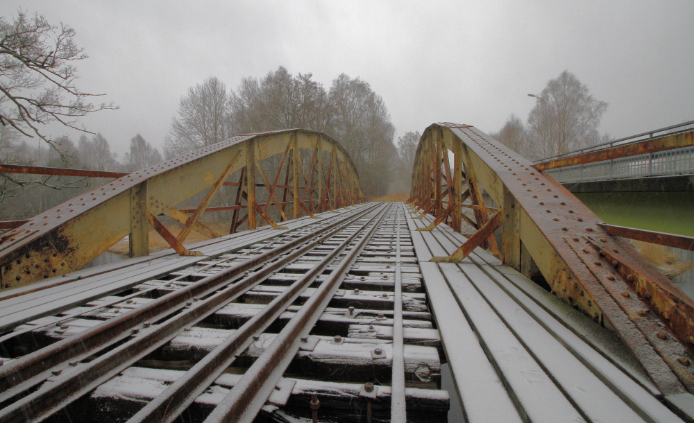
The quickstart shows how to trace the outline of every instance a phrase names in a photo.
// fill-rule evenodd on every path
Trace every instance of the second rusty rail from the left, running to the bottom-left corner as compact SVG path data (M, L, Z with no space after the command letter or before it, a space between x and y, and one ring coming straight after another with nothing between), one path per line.
M54 377L53 384L32 392L30 395L1 410L0 422L40 422L44 420L44 418L49 417L60 408L65 407L86 392L105 383L108 379L133 365L136 361L146 356L146 354L150 354L155 349L162 347L162 345L183 332L185 327L196 325L232 300L235 300L239 295L253 288L253 286L260 284L260 282L271 276L279 268L301 257L326 239L335 236L335 234L344 230L345 227L362 218L371 209L373 207L370 207L362 214L352 216L344 224L336 227L335 230L320 236L310 243L304 243L301 245L301 248L289 252L287 257L271 263L253 275L244 277L244 279L222 291L214 293L219 287L210 288L205 293L201 293L201 296L213 294L211 297L199 302L190 302L188 309L171 316L160 325L153 325L149 329L146 327L136 328L133 331L134 337L126 343L99 356L98 359L94 359L89 363L83 363L80 368L74 369L65 376ZM160 316L153 318L153 321L164 318L167 314L169 313L164 312ZM139 331L142 331L141 334L137 334Z

